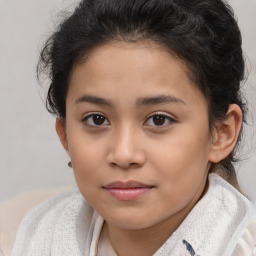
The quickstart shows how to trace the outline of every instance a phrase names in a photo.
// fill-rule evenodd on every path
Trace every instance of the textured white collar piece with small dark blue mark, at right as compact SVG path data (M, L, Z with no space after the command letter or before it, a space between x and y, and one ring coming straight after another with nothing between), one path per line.
M256 219L255 209L219 176L210 174L209 180L207 194L155 256L232 255L239 237Z

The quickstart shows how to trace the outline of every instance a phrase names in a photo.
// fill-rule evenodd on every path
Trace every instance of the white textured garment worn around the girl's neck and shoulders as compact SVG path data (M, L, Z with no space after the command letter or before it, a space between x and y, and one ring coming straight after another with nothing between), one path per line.
M207 193L154 256L231 256L255 219L250 201L210 174ZM103 221L78 189L64 192L25 217L12 256L96 256Z

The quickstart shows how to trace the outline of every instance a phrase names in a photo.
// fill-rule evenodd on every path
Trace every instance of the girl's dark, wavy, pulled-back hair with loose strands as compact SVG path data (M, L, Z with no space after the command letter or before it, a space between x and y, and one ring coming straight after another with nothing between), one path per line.
M208 101L210 129L225 118L230 104L245 116L240 95L244 78L241 34L231 7L222 0L83 0L46 42L38 74L51 80L47 109L65 120L69 78L76 63L94 47L113 40L153 40L188 68L190 79ZM234 152L221 169L236 185Z

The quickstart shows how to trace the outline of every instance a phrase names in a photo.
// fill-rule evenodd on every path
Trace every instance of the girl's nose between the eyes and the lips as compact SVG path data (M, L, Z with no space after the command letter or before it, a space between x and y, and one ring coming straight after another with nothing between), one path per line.
M143 166L146 157L138 137L138 133L129 127L115 131L110 141L108 164L121 169Z

